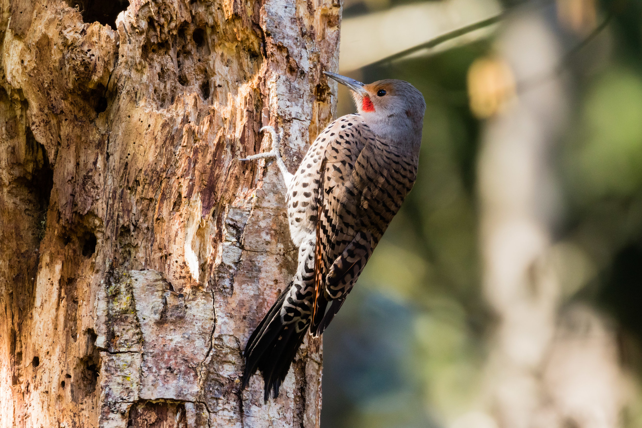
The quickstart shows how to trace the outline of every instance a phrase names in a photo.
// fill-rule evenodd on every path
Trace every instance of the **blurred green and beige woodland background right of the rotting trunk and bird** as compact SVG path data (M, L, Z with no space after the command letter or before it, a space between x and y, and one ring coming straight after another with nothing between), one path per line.
M322 427L642 427L642 3L345 0L340 72L428 108L324 334Z

